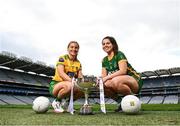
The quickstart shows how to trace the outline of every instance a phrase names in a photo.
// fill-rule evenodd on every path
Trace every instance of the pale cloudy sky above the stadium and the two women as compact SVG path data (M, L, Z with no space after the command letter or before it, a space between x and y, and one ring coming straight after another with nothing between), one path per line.
M80 44L83 73L100 75L113 36L139 72L180 66L179 0L0 0L0 51L55 65Z

